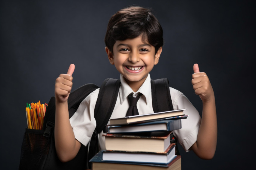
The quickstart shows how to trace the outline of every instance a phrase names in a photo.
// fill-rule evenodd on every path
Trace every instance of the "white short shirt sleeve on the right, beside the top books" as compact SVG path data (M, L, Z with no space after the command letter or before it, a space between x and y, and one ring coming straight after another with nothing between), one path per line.
M187 119L181 120L181 129L174 130L173 133L177 137L178 142L186 152L197 140L201 117L195 107L189 102L186 96L178 90L170 87L170 93L173 103L173 109L186 109L184 114L189 115Z

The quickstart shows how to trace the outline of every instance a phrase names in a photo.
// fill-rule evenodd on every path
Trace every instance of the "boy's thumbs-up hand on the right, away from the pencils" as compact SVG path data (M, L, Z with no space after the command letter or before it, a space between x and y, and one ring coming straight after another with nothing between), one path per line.
M198 64L194 64L194 74L192 74L192 85L195 94L199 95L203 102L209 102L214 99L214 92L208 76L199 71Z

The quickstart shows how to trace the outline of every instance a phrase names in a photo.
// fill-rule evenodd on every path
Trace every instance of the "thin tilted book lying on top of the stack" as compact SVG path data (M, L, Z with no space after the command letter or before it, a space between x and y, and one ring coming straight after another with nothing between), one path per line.
M155 121L155 120L163 120L163 119L179 119L183 118L185 115L183 111L186 109L173 110L173 111L164 111L158 113L150 113L150 114L141 114L135 116L127 116L117 119L110 119L109 125L123 125L130 123L139 123L145 121Z

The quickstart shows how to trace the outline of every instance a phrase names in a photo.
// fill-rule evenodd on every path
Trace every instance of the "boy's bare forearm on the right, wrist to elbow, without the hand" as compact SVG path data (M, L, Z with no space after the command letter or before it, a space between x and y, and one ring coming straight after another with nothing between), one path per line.
M203 102L203 113L197 141L192 150L202 159L212 159L217 145L217 116L214 95Z

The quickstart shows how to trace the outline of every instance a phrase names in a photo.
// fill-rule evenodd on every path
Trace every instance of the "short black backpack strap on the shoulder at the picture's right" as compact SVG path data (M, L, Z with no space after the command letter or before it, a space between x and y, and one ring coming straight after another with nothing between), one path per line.
M173 110L169 81L167 78L151 79L151 94L155 113Z

